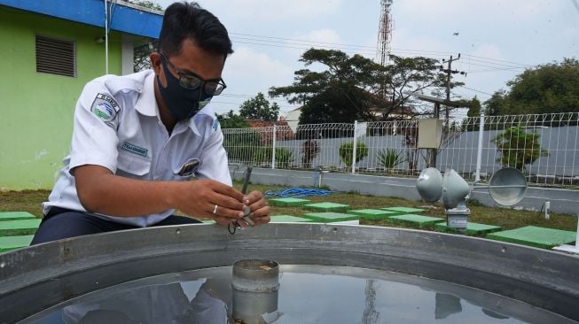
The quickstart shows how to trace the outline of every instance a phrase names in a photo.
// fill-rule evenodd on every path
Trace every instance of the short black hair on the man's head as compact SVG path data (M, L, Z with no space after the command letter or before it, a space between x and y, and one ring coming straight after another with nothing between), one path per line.
M168 6L160 28L159 51L171 57L178 55L181 44L190 38L202 50L223 55L233 53L227 29L211 12L197 3L174 3Z

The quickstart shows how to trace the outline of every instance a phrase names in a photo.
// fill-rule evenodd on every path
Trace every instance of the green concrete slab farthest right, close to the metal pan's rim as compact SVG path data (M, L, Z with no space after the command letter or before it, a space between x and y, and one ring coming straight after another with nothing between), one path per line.
M502 232L491 233L489 239L534 246L536 248L551 249L561 244L575 242L575 232L553 228L538 228L527 226Z

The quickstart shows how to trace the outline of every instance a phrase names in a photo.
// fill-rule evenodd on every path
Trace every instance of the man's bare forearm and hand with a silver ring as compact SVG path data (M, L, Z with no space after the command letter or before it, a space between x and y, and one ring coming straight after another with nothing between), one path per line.
M214 219L221 225L243 217L244 195L219 181L142 181L117 176L104 166L94 165L77 166L71 174L81 204L88 212L135 217L178 209L192 217Z

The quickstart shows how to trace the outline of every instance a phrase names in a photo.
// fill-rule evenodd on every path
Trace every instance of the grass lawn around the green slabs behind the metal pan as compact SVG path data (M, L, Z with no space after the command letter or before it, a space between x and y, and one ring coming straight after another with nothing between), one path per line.
M241 183L236 182L234 186L241 189ZM285 189L276 186L264 186L250 184L247 190L262 190L263 192L270 189ZM23 190L23 191L0 191L0 212L30 212L36 217L42 217L41 203L45 201L50 194L50 190ZM444 210L441 204L428 204L424 202L415 202L400 198L390 197L373 197L363 196L355 193L337 193L325 197L307 197L312 203L332 202L338 204L349 204L350 209L366 209L381 207L415 207L426 209L421 214L427 216L444 217ZM496 225L503 229L522 228L533 225L543 228L558 228L575 231L577 228L577 219L571 215L551 213L551 220L545 220L543 214L538 212L517 211L506 208L490 208L473 204L468 204L471 209L469 221ZM302 216L307 211L301 207L278 207L271 206L271 215L293 215ZM386 220L360 220L363 225L377 225L384 227L403 227ZM434 228L426 228L433 230Z

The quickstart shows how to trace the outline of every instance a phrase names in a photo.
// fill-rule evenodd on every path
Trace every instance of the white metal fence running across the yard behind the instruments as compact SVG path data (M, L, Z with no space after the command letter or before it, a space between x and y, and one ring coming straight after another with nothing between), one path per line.
M434 150L418 149L418 120L223 129L232 164L416 177ZM535 185L579 184L579 113L489 116L444 127L435 166L488 179L503 166ZM356 139L356 141L355 141ZM356 157L356 159L354 158Z

